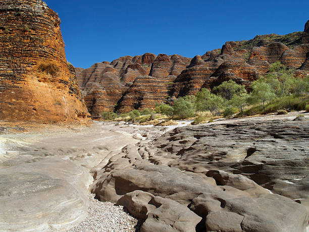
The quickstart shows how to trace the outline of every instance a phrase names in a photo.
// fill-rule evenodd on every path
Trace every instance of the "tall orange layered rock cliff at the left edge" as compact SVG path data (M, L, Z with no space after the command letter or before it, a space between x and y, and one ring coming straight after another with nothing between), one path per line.
M58 15L40 0L2 0L0 25L0 119L87 119Z

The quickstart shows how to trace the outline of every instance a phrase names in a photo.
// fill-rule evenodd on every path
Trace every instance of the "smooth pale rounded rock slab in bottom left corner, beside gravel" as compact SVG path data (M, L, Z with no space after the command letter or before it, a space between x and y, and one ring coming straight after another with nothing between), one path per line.
M59 230L86 216L87 173L71 161L16 157L0 178L0 230Z

